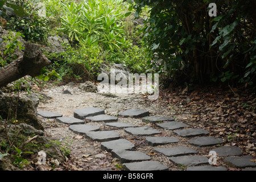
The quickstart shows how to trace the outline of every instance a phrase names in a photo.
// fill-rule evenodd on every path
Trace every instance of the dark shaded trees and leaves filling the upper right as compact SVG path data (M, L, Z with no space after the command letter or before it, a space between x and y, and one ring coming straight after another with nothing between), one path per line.
M134 2L135 16L143 16L143 7L150 7L142 31L156 72L177 82L255 84L255 1ZM208 15L212 2L217 5L216 18Z

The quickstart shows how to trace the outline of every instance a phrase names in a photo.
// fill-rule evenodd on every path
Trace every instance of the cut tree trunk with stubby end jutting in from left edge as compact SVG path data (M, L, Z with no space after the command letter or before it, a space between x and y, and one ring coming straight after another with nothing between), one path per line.
M41 69L51 63L40 48L38 44L26 42L23 56L0 68L0 88L26 75L40 75Z

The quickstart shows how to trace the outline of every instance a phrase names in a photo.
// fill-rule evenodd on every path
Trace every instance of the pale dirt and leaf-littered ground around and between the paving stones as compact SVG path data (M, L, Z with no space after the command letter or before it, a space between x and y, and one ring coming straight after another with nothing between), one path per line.
M71 94L64 94L64 90L68 90ZM223 145L237 145L241 146L245 155L252 155L255 157L255 110L247 113L246 121L238 122L238 125L245 125L242 129L247 129L247 133L232 133L233 122L230 114L236 108L228 108L230 103L225 101L232 100L229 95L224 95L220 91L217 96L214 95L208 100L208 97L201 98L199 93L193 92L181 95L182 90L162 90L157 101L148 101L147 96L130 94L129 96L123 94L104 95L100 93L84 92L78 88L77 85L68 84L61 86L53 86L52 88L40 91L40 104L38 110L52 111L63 114L63 117L73 117L75 109L82 109L86 107L98 107L105 110L105 114L116 115L120 111L126 109L142 109L150 111L150 115L174 117L176 121L187 123L190 128L207 129L210 136L221 137L224 139ZM214 92L216 93L216 91ZM208 92L207 94L211 94ZM227 94L232 94L227 92ZM226 97L225 97L226 96ZM226 100L224 100L224 98ZM229 98L229 100L228 100ZM236 102L236 100L234 100ZM222 105L221 105L222 103ZM218 106L220 105L220 106ZM231 104L232 105L232 104ZM220 111L222 109L222 113ZM225 109L225 111L223 111ZM228 111L229 109L229 111ZM243 108L242 108L243 109ZM228 113L228 115L225 115ZM233 113L236 114L236 113ZM246 118L243 117L243 118ZM212 119L210 119L212 118ZM227 119L228 118L228 121ZM119 122L131 123L137 126L150 126L162 132L159 136L176 137L179 139L178 143L166 144L164 147L171 146L188 146L194 148L199 153L197 155L208 156L210 148L212 147L196 147L188 143L189 138L179 137L175 135L174 131L164 130L155 124L142 122L141 118L122 118L118 117ZM105 126L103 122L85 121L88 125L100 126L101 130L115 130L112 127ZM229 126L227 126L229 123ZM246 123L249 123L248 125ZM64 148L68 148L70 153L64 164L55 167L55 170L72 170L72 171L100 171L100 170L120 170L121 163L118 159L112 158L109 152L101 150L101 142L95 142L86 139L83 135L74 134L68 129L68 125L56 122L55 119L43 119L43 126L47 137L58 140ZM184 170L185 166L179 166L170 162L169 157L154 152L153 149L163 146L148 146L144 142L145 137L133 136L127 134L122 129L117 129L121 138L130 140L135 144L135 150L142 151L150 155L152 160L156 160L170 170ZM236 134L236 135L235 135ZM230 138L233 136L232 140ZM230 137L230 138L229 138ZM209 157L209 156L208 156ZM240 170L227 166L222 158L217 159L218 166L225 166L229 170ZM51 169L50 167L48 169Z

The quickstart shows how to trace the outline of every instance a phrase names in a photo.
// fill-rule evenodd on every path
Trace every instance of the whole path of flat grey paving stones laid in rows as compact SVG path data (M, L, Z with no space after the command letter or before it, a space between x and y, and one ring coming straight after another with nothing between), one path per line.
M176 137L159 136L163 134L157 129L148 126L135 126L129 123L118 122L118 117L106 115L105 111L96 107L76 109L74 117L62 117L62 114L38 111L44 118L56 118L56 121L65 123L69 130L82 134L85 138L102 142L101 149L109 152L113 158L118 158L126 170L159 171L168 170L161 162L152 160L151 156L138 151L134 144L127 139L122 139L114 129L124 130L133 137L144 137L144 142L149 146L160 146L152 152L163 154L170 158L170 162L185 166L187 171L226 171L226 167L210 165L218 157L224 157L224 162L230 167L243 168L243 170L256 170L256 163L251 161L251 156L242 156L242 150L236 146L221 146L223 139L209 137L209 132L204 129L192 129L190 126L174 121L174 118L150 116L149 111L129 109L118 113L118 117L142 118L143 122L152 123L159 129L174 130L174 133L188 140L194 146L212 146L212 156L198 155L198 151L187 146L164 147L167 143L179 144ZM105 122L113 130L101 130L98 126L86 125L84 119L93 122ZM184 127L186 127L184 129Z

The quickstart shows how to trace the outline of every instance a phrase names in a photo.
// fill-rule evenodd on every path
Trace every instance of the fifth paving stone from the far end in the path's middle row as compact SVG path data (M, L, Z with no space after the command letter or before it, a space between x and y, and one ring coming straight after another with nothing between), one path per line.
M157 146L159 144L177 143L179 139L175 137L147 137L145 142L150 146Z

